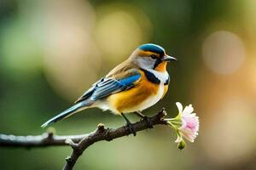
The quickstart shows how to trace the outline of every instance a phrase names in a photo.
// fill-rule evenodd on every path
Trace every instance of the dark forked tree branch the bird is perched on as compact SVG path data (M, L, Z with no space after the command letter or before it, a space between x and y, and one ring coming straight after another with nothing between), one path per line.
M148 117L150 125L166 125L167 122L163 119L166 116L166 110L162 109L154 116ZM135 132L145 130L148 127L147 120L132 123ZM98 125L92 133L73 135L73 136L58 136L54 133L44 133L38 136L14 136L0 134L0 146L14 147L46 147L53 145L70 145L73 148L71 156L67 157L66 164L63 167L65 170L73 169L76 161L91 144L101 140L113 140L125 135L131 134L129 127L123 126L119 128L106 128L102 123Z

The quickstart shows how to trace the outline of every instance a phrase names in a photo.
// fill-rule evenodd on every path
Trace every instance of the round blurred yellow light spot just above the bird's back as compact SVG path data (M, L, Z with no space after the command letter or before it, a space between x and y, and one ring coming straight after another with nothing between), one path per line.
M134 10L124 6L98 8L96 42L108 59L128 57L137 45L148 41L151 33L148 17L141 11L134 13Z

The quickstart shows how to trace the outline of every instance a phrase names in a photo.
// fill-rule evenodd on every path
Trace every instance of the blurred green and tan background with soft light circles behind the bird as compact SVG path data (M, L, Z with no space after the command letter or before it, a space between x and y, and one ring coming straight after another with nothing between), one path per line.
M75 169L256 169L256 1L0 0L0 133L41 134L145 42L178 61L170 90L154 107L194 105L200 135L177 150L172 129L155 127L92 145ZM137 121L136 116L129 116ZM90 109L54 125L89 133L124 121ZM69 147L0 148L1 169L61 169Z

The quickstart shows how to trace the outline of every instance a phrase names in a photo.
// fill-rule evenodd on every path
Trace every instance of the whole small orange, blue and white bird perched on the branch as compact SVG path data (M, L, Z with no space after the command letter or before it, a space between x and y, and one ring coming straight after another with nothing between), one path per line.
M160 45L140 45L128 59L85 91L72 107L44 122L41 127L47 127L84 109L97 107L123 116L126 126L136 136L132 123L125 115L134 113L148 120L148 116L144 116L142 111L165 96L170 82L166 65L172 60L177 59L166 54L166 50Z

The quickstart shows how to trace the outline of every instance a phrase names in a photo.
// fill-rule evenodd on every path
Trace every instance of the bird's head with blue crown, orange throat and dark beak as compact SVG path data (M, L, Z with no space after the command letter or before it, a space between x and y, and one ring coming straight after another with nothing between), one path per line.
M154 43L145 43L139 46L131 55L137 64L144 69L154 69L156 71L166 71L166 63L177 60L166 54L166 50Z

